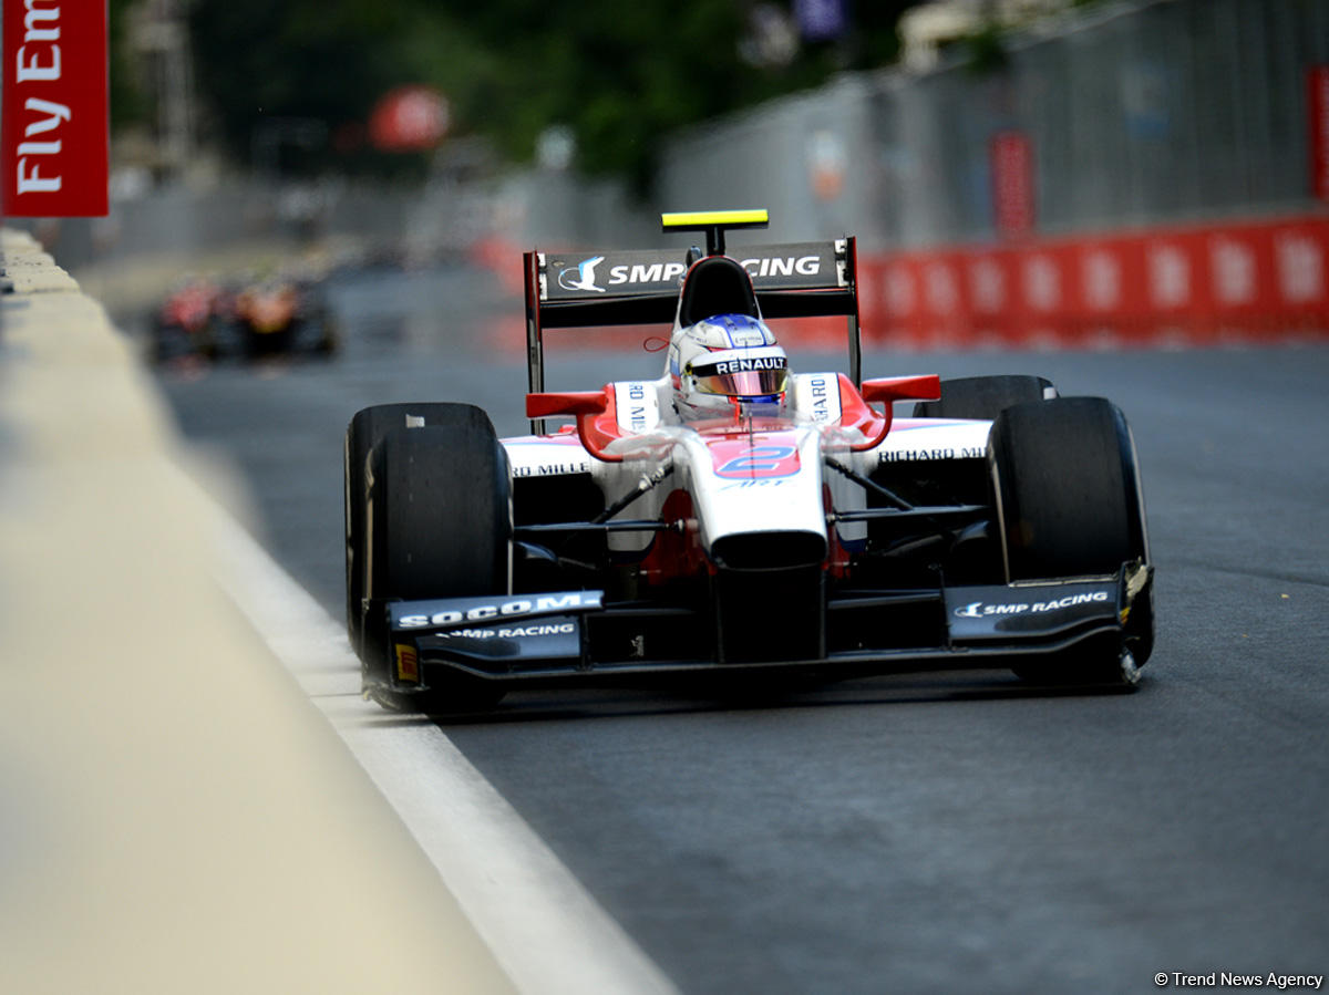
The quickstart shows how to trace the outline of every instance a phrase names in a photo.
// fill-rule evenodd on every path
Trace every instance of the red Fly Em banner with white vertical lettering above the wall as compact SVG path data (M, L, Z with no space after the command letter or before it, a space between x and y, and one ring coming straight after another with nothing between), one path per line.
M106 214L106 0L4 0L0 213Z

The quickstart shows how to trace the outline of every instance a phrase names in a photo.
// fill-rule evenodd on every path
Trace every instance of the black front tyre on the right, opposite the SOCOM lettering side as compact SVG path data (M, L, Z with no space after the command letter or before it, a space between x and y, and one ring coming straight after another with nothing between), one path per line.
M993 421L989 464L1006 579L1112 574L1148 565L1135 442L1126 417L1100 397L1017 404ZM1154 644L1152 585L1131 607L1124 639L1073 659L1021 666L1057 683L1131 687Z

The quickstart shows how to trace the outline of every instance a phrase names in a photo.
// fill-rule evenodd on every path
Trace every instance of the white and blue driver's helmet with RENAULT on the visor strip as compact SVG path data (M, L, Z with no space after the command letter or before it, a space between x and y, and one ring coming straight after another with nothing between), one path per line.
M670 343L670 381L684 418L732 414L739 404L779 408L788 377L784 349L751 315L704 317Z

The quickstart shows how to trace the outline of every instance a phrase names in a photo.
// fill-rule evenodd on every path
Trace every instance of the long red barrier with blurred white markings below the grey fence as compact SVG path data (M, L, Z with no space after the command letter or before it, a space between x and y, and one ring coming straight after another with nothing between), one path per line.
M863 256L867 341L906 348L1329 337L1329 215Z

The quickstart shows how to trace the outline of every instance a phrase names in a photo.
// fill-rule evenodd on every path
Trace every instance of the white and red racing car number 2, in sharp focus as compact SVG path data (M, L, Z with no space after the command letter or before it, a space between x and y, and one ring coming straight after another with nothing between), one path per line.
M704 248L524 254L529 434L465 404L355 414L368 697L440 713L533 685L954 667L1135 685L1154 567L1122 412L1029 375L861 379L855 239L726 251L767 223L664 214ZM767 324L816 316L845 319L847 372L791 371ZM668 328L663 372L546 392L545 329L598 325Z

